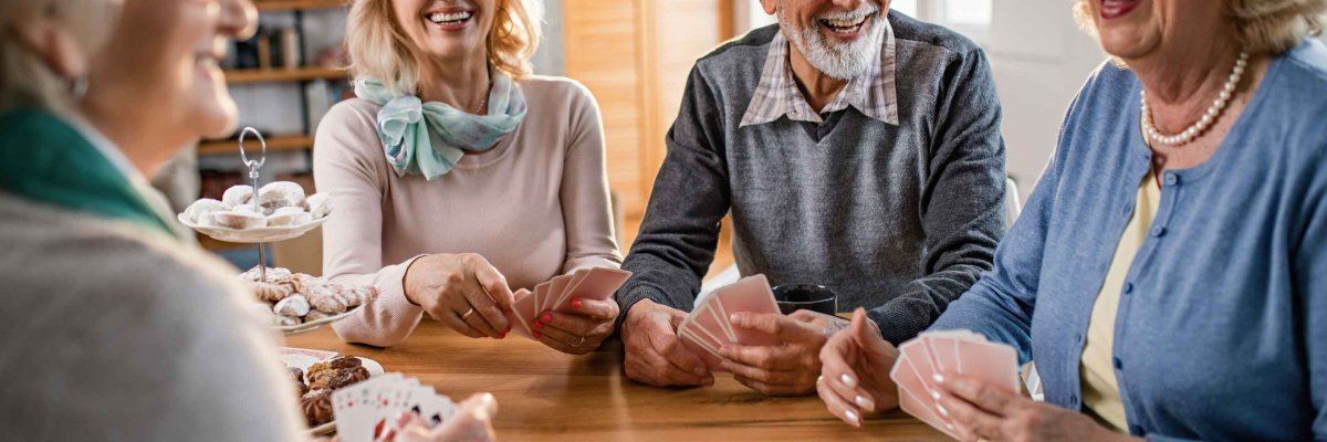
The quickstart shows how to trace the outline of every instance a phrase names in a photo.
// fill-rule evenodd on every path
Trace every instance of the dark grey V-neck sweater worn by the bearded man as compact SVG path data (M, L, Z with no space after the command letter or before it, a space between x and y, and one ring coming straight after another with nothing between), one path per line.
M617 293L690 311L731 211L742 275L815 283L869 309L886 340L925 329L991 268L1005 232L1005 142L981 48L889 15L900 125L853 108L823 123L738 127L776 25L697 61ZM625 316L625 315L624 315Z

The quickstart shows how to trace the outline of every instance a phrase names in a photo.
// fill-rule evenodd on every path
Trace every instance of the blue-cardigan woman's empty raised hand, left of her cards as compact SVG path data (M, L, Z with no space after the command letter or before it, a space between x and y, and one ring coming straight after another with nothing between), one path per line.
M861 426L867 413L898 406L898 388L889 378L897 358L898 349L880 337L867 311L859 308L852 312L852 325L820 349L820 400L833 415Z

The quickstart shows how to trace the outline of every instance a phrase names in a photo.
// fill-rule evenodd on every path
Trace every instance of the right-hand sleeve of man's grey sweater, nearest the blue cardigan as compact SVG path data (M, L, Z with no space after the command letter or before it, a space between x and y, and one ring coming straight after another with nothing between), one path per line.
M943 76L918 207L925 275L868 312L900 344L929 327L991 268L1005 235L1005 141L990 65L981 49L955 58Z

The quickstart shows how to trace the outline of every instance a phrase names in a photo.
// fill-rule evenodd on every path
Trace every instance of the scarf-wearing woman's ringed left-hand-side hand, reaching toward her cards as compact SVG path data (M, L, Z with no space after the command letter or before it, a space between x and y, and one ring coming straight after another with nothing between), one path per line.
M470 337L503 338L511 324L512 293L507 277L476 254L438 254L406 269L406 299L433 319Z

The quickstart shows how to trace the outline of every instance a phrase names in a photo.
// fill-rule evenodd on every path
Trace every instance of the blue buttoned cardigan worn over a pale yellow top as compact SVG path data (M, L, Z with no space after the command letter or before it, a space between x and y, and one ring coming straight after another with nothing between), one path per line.
M995 268L932 329L1035 357L1079 410L1088 316L1152 154L1132 72L1079 92ZM1115 374L1129 431L1156 439L1327 439L1327 46L1279 56L1213 157L1162 174L1121 291Z

